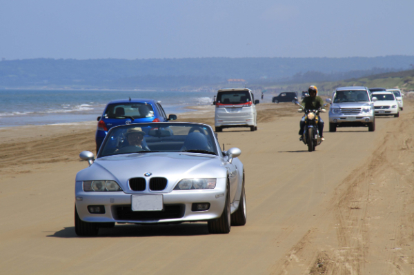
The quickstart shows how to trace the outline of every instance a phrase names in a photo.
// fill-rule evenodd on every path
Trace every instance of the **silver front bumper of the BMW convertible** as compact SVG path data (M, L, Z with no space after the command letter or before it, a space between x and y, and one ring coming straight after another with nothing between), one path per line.
M162 194L163 211L131 210L134 194ZM76 182L75 196L79 218L95 223L180 223L186 221L208 221L219 218L226 201L226 179L217 179L213 190L173 190L172 192L83 192L82 182ZM79 201L79 198L82 198ZM193 203L210 203L206 211L193 212ZM103 205L105 214L91 214L88 205Z

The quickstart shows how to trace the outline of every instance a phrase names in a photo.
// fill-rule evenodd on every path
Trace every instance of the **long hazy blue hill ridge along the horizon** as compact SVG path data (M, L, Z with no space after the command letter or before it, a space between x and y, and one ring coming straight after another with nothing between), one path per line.
M336 81L406 70L413 56L348 58L23 59L0 61L0 88L180 88Z

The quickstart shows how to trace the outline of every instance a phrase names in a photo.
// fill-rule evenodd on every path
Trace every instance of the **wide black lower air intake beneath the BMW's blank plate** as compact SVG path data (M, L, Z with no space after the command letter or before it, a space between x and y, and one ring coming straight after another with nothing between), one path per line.
M132 211L131 205L113 206L115 208L115 220L117 221L158 221L169 218L182 218L186 205L164 205L162 211ZM113 209L113 208L112 208Z

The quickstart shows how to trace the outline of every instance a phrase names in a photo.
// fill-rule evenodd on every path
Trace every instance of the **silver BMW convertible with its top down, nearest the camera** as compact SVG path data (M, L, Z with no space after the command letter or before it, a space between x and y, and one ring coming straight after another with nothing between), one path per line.
M200 123L137 123L110 129L77 173L75 232L95 236L115 223L207 221L210 233L246 223L242 152L221 152Z

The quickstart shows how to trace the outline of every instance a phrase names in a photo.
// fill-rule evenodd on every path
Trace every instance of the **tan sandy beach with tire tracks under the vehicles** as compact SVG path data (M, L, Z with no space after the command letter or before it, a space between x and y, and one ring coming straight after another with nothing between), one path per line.
M375 132L326 123L315 152L298 141L295 105L257 107L257 132L218 133L246 170L247 223L224 235L183 223L79 238L75 175L97 122L0 128L0 274L411 274L414 101ZM214 106L179 121L214 126Z

